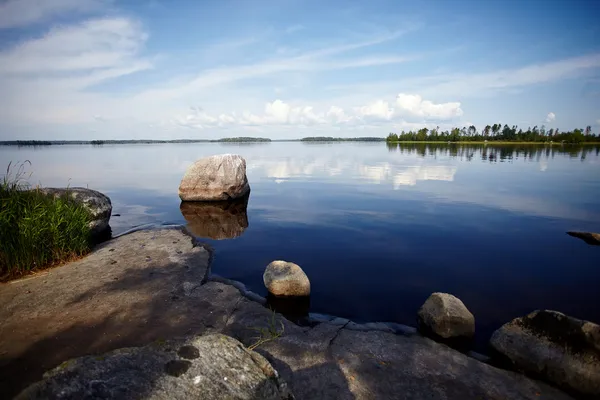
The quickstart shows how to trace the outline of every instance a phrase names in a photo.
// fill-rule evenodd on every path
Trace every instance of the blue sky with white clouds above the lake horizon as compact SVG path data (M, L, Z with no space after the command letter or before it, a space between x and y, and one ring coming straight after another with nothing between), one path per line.
M600 1L0 0L0 140L600 132Z

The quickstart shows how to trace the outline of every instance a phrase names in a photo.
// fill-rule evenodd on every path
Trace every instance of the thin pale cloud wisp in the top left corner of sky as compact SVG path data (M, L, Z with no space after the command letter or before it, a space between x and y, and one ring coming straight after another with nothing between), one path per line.
M0 29L43 22L66 12L87 13L110 0L8 0L0 4Z

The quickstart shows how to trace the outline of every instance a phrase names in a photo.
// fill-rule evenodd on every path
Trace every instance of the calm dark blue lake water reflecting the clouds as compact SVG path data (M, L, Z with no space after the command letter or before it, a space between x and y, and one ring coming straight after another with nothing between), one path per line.
M600 231L596 147L0 147L0 165L27 159L32 183L106 193L121 214L111 219L118 234L186 223L179 181L193 161L219 153L246 158L252 193L248 228L207 239L213 272L255 292L266 294L265 266L284 259L310 277L312 312L415 325L419 306L442 291L475 314L480 343L537 308L600 322L600 247L565 234ZM202 213L213 225L240 221L227 211Z

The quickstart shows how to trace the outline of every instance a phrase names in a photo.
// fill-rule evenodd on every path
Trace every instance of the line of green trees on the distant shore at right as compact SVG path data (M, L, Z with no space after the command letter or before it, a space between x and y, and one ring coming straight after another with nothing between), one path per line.
M474 125L463 128L453 128L442 131L439 127L435 129L422 128L418 131L402 131L400 134L390 133L386 139L388 142L565 142L586 143L600 142L600 135L592 133L592 127L585 129L574 129L572 131L559 131L548 129L542 125L540 128L529 127L526 131L516 125L512 127L505 124L486 125L483 130L478 131Z

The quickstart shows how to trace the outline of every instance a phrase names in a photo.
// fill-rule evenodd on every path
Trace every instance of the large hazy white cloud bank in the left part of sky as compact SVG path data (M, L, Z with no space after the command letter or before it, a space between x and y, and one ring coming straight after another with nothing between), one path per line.
M73 124L130 112L111 96L84 89L152 68L140 56L147 37L131 19L99 18L0 51L0 118Z

